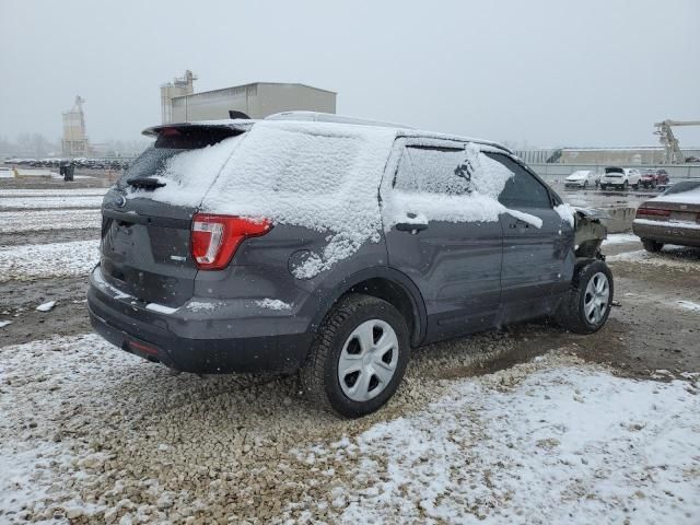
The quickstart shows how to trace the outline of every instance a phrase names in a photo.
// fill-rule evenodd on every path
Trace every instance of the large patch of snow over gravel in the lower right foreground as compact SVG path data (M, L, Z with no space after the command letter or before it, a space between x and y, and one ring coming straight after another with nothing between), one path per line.
M514 386L511 374L456 382L427 409L374 424L354 450L316 446L355 470L335 488L338 521L697 523L697 382L584 364Z

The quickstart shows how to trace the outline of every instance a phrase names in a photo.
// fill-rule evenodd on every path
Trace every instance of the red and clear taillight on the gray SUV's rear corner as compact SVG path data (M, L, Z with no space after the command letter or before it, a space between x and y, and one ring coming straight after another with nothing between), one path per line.
M271 228L267 219L196 213L190 235L192 259L200 270L221 270L243 241L265 235Z

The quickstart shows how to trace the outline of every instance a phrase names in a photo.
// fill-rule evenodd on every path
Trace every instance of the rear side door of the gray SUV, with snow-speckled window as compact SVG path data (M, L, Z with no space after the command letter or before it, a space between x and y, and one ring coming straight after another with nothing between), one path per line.
M438 200L441 195L464 197L469 206L468 196L458 194L463 180L454 173L463 151L464 145L460 150L406 148L395 174L396 189L388 188L401 191L402 209L393 213L419 215L418 201L424 203L431 196ZM430 173L421 173L424 171ZM416 208L411 209L413 198ZM427 342L493 326L501 295L501 223L427 221L422 230L400 226L385 234L388 261L410 277L423 295Z

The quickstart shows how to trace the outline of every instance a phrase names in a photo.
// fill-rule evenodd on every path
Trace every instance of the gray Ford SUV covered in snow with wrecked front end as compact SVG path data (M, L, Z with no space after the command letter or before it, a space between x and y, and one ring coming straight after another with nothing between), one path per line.
M312 399L359 417L421 345L607 319L605 235L586 237L499 144L310 113L144 135L105 196L88 305L97 332L149 361L300 371Z

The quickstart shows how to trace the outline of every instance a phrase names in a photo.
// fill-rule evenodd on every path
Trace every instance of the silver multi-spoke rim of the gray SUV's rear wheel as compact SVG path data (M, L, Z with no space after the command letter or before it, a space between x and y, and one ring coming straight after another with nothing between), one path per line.
M398 337L388 323L360 324L346 339L338 360L342 393L360 402L378 396L394 377L398 352Z

